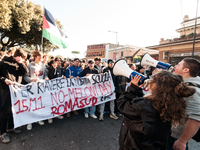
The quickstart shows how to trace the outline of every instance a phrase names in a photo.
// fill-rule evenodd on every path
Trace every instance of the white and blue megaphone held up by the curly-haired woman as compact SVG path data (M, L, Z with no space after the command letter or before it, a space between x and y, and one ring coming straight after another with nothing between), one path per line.
M133 76L133 78L135 77L135 75L139 75L141 77L139 84L143 84L144 81L147 79L147 77L143 76L142 74L133 71L131 68L129 68L129 66L127 65L125 59L119 59L115 62L114 66L113 66L113 73L116 76L125 76L129 79L131 79L131 76Z

